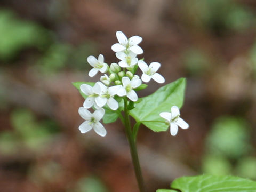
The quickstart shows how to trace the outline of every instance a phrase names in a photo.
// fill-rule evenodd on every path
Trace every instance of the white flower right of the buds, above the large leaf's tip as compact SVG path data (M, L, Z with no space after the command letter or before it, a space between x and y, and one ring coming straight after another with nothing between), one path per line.
M141 76L141 79L143 82L149 82L151 78L153 78L157 83L164 83L164 77L156 71L159 69L161 66L160 63L158 62L152 62L148 66L146 62L144 61L139 61L138 62L139 68L142 70L143 74Z

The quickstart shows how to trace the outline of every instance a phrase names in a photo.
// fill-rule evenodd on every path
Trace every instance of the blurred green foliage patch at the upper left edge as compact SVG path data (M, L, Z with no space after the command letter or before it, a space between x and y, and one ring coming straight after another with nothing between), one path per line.
M0 10L0 60L10 60L27 47L42 49L49 41L49 33L34 22L17 18L12 11Z

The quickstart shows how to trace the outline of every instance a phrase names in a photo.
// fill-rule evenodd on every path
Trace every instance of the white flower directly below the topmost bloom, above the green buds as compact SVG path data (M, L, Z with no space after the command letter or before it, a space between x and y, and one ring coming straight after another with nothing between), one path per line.
M116 53L116 57L121 60L118 62L118 65L123 68L136 65L138 63L138 58L136 56L137 54L131 51L129 51L128 54L125 54L124 52Z

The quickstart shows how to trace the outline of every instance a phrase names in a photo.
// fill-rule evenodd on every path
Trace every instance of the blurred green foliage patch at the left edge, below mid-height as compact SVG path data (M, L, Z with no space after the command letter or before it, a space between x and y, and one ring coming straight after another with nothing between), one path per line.
M10 121L14 130L0 133L0 151L3 154L16 153L21 145L41 150L59 132L55 122L49 119L38 122L27 109L13 110Z

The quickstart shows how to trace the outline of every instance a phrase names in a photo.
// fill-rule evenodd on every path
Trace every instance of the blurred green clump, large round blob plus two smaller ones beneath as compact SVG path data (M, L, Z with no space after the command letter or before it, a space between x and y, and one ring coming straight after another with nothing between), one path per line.
M245 119L221 116L207 135L202 171L256 179L256 158L250 156L251 149L250 127Z

